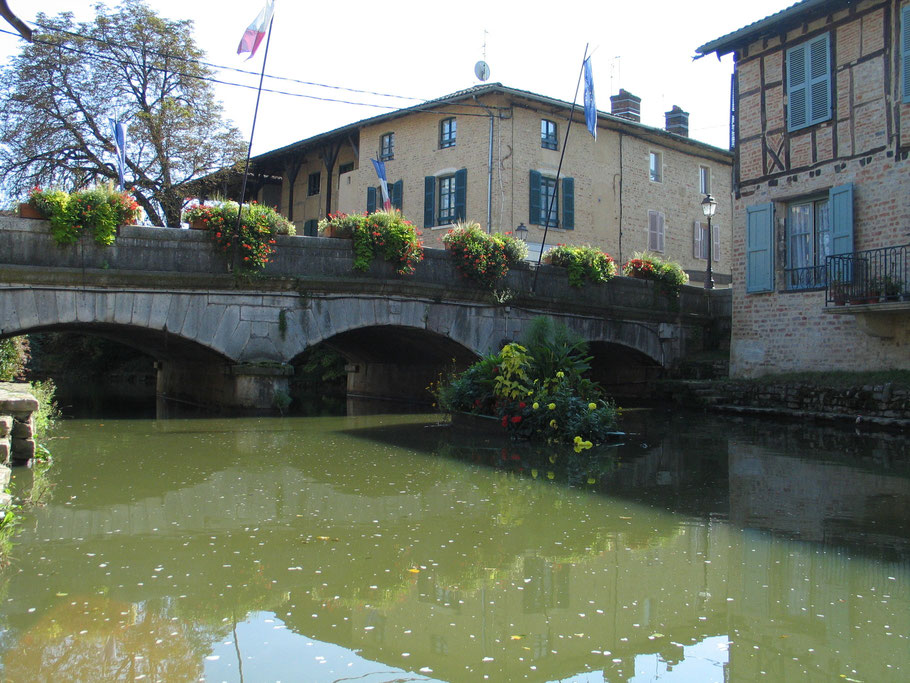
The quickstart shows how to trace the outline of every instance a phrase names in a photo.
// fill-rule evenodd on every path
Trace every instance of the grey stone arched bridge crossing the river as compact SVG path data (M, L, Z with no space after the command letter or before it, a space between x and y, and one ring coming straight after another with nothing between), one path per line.
M270 406L320 343L349 360L350 393L416 398L453 359L520 337L542 314L586 339L600 374L618 381L703 350L729 319L727 292L684 288L671 302L627 278L575 290L552 267L537 294L525 269L493 296L435 250L411 277L385 263L357 274L350 242L319 238L279 238L270 277L240 285L205 233L127 226L111 247L57 247L46 223L2 218L0 261L0 336L104 335L158 361L159 394L227 406Z

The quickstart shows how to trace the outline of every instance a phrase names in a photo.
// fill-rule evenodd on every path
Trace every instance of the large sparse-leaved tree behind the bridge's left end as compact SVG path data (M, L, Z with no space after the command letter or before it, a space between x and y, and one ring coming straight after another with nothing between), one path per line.
M244 158L199 60L191 21L144 0L95 6L94 21L39 14L20 55L0 71L0 175L5 190L117 182L109 118L127 128L125 182L156 225L178 226L184 197L217 186Z

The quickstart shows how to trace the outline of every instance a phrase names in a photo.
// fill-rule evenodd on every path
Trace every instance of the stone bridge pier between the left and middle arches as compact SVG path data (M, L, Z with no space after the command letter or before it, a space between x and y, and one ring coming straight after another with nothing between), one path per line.
M186 403L228 413L277 414L290 398L293 366L286 363L205 364L163 360L157 393L164 402Z

